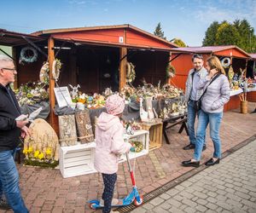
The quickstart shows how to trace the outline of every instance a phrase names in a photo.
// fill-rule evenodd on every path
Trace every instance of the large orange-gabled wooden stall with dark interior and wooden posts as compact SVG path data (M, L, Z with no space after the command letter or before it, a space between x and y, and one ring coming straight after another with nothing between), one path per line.
M105 88L119 90L126 83L126 63L136 66L134 86L166 81L166 66L170 60L170 50L175 44L135 26L96 26L67 29L43 30L20 35L24 43L3 43L13 46L15 58L27 45L38 51L38 58L32 63L17 63L16 86L27 81L37 81L43 62L49 61L49 70L55 58L61 60L60 86L68 84L81 86L88 94L101 93ZM55 80L49 72L49 124L58 132L55 107Z

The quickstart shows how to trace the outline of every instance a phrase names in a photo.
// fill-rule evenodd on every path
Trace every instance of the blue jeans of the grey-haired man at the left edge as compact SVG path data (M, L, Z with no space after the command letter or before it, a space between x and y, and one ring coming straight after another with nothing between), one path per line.
M0 152L0 195L3 193L15 213L26 213L26 205L20 194L19 173L13 155L15 150Z

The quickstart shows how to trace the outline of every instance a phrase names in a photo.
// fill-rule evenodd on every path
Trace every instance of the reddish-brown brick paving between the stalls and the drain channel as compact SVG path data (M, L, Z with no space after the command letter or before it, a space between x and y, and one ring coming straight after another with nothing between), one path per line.
M249 103L252 112L255 103ZM256 114L241 114L238 110L224 112L221 125L222 151L235 147L241 141L255 134ZM171 144L163 146L136 160L136 181L140 193L149 193L168 181L192 170L181 166L181 161L192 157L193 151L184 151L189 138L179 127L168 130ZM201 162L212 157L212 141L207 132L207 150ZM131 161L131 163L133 163ZM31 213L36 212L92 212L84 204L90 199L99 199L102 194L102 176L98 173L86 176L62 178L59 170L40 169L17 165L20 173L20 187L23 198ZM119 164L115 197L124 197L131 189L127 164ZM221 190L221 189L220 189ZM188 199L189 200L189 199ZM191 201L191 200L190 200ZM166 207L167 208L167 207ZM0 212L11 212L1 211ZM99 211L98 211L99 212Z

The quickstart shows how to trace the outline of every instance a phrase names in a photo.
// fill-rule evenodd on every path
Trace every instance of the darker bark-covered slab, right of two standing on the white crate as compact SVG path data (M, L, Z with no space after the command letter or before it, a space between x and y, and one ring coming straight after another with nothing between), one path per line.
M92 125L90 123L90 112L88 109L76 113L76 124L78 127L79 141L82 144L94 141Z

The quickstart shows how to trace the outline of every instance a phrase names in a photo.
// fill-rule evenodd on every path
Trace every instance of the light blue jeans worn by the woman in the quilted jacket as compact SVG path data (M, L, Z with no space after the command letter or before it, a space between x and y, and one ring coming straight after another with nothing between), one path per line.
M201 159L201 152L203 143L206 137L207 125L210 124L210 136L214 146L213 158L221 157L221 142L219 139L219 127L223 112L207 113L204 111L199 112L198 126L196 131L196 143L194 159L199 161Z

